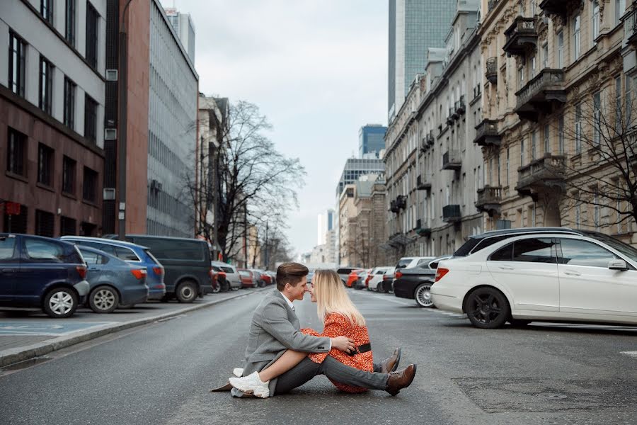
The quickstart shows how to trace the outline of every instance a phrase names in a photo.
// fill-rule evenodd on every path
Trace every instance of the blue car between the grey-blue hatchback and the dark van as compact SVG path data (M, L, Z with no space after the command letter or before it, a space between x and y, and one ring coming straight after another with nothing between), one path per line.
M118 259L130 263L132 266L145 267L147 273L146 284L149 288L148 300L161 300L166 295L166 285L163 283L165 271L159 260L151 254L147 246L101 237L63 236L59 239L99 249L106 254L116 256ZM120 302L120 304L132 307L127 302Z

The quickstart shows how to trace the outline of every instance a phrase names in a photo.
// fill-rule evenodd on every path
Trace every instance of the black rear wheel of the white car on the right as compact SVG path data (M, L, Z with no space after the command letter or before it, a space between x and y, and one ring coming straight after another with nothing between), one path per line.
M503 293L489 287L471 292L466 299L464 311L471 324L481 329L498 329L511 314L509 303Z

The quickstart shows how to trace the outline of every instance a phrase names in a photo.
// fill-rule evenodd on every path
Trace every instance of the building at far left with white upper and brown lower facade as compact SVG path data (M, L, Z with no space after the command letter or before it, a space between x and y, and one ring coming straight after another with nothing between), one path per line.
M0 232L101 234L105 16L105 0L0 2L0 208L20 204Z

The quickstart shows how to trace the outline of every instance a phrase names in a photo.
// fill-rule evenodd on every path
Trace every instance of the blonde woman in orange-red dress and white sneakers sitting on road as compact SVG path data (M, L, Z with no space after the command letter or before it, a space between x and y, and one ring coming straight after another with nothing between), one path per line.
M311 361L315 363L323 363L326 356L332 356L336 360L345 365L357 368L360 370L367 370L372 372L374 370L374 363L372 362L372 348L369 344L369 334L367 333L367 327L365 326L365 318L355 307L350 297L345 292L343 283L340 277L335 271L332 270L317 270L312 277L312 284L310 287L310 294L312 302L316 302L317 311L319 317L325 324L323 333L319 334L313 329L301 329L304 334L310 334L314 336L348 336L354 339L357 346L357 352L348 354L344 351L332 348L328 353L302 353L299 351L287 350L283 355L268 366L261 370L258 375L259 379L267 384L271 379L277 378L288 370L294 368L299 364L305 356L309 356ZM398 362L396 362L397 365ZM248 382L248 377L243 378L230 378L230 384L246 393L253 393L254 388ZM338 387L338 389L346 392L365 392L366 388L352 387L351 385L341 384L340 382L332 383ZM267 386L266 386L267 387ZM270 394L255 393L257 397L266 398Z

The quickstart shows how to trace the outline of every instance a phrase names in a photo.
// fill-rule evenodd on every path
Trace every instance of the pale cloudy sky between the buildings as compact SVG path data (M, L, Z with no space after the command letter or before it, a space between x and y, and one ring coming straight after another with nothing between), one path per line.
M316 245L358 130L386 125L386 0L161 0L190 13L200 91L256 103L307 171L289 212L294 250Z

